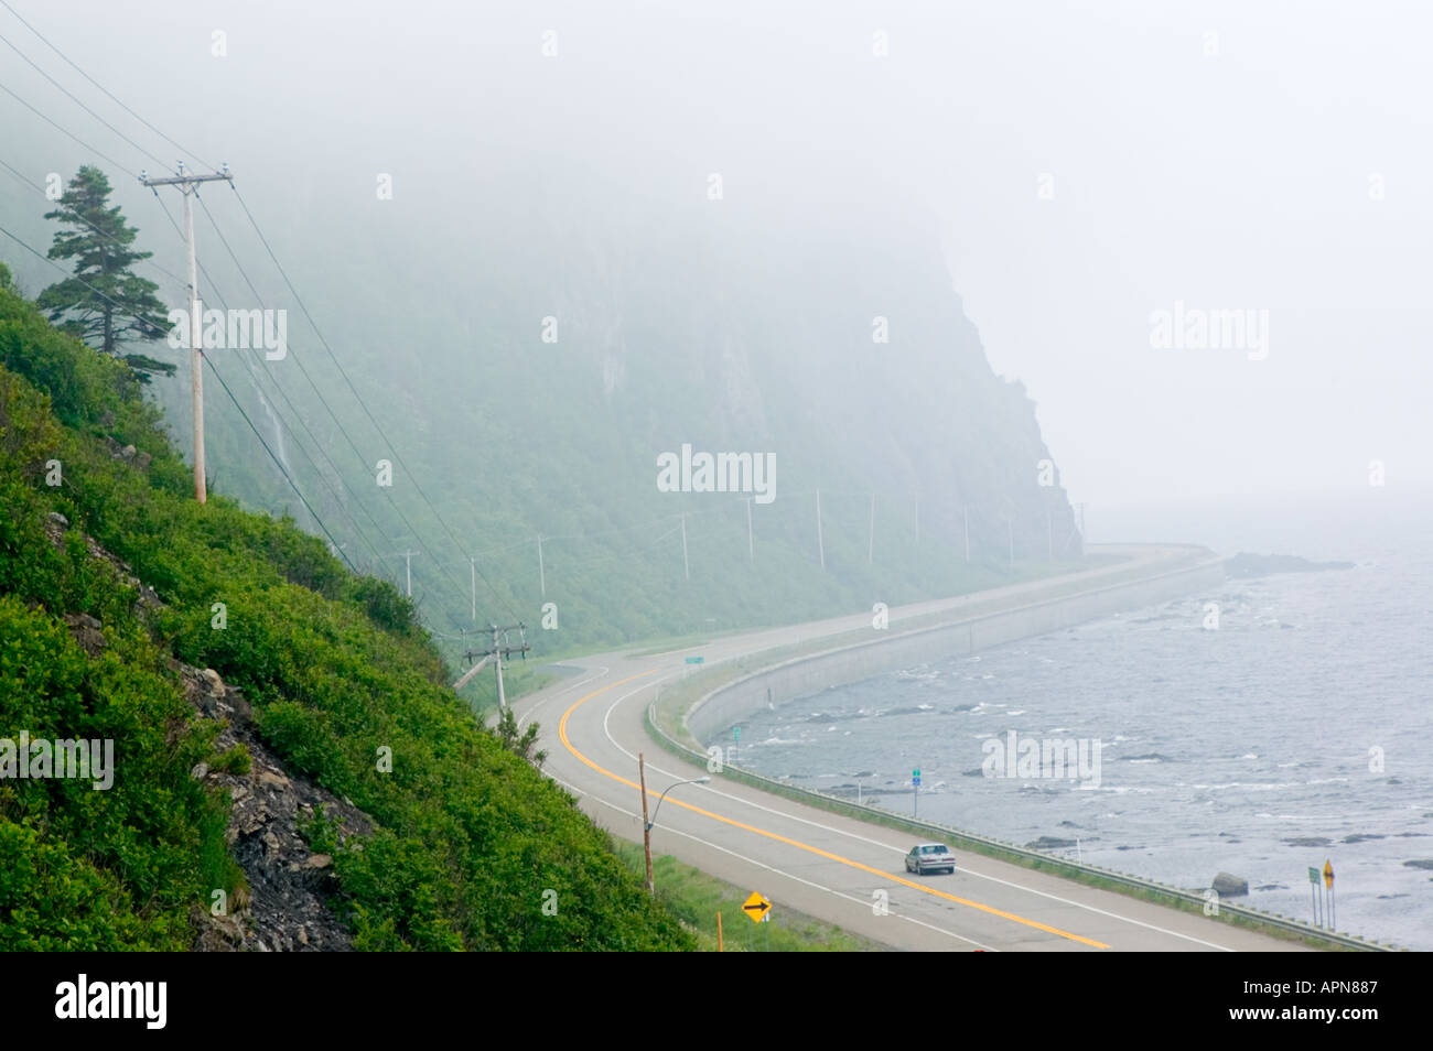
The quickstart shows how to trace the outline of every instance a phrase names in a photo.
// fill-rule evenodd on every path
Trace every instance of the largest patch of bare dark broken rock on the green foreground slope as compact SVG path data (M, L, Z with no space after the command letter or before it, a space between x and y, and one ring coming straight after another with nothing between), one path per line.
M191 703L206 719L228 722L215 749L224 753L242 743L251 759L249 772L242 775L211 770L206 763L191 772L228 790L234 800L229 849L249 883L248 899L231 902L231 915L201 918L195 948L211 952L351 948L347 925L325 904L337 891L332 858L314 853L298 828L312 820L318 806L338 822L341 839L370 835L373 822L327 789L289 778L254 733L248 702L225 686L216 672L182 664L179 673Z

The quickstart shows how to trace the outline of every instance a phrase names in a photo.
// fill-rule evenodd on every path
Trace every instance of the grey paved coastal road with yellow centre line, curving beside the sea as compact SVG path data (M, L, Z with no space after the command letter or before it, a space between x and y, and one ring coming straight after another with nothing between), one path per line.
M1113 550L1113 548L1106 548ZM1138 560L1168 560L1169 548L1128 548ZM1072 574L1098 580L1129 563ZM1042 581L980 593L1033 596ZM891 624L972 597L891 610ZM838 617L722 639L699 647L708 663L870 624L870 614ZM646 755L649 806L669 785L706 776L652 742L643 712L653 689L682 674L676 650L658 656L605 653L565 662L576 674L520 699L522 722L542 726L545 770L613 835L641 842L638 753ZM1096 891L1056 876L957 852L954 875L913 876L903 858L909 833L868 825L768 795L719 776L682 785L662 803L653 853L681 861L741 888L761 891L777 912L791 908L900 949L987 951L1288 951L1291 942L1250 934L1199 915ZM881 905L888 911L881 912ZM724 916L732 936L744 916ZM715 918L714 918L715 925Z

